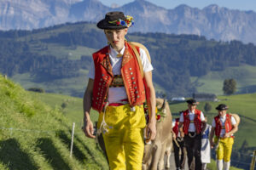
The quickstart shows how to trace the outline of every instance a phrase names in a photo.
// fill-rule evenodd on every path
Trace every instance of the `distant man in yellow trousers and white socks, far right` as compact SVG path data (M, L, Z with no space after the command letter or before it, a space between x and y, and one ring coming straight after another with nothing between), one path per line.
M238 130L237 122L234 116L227 114L228 106L224 104L216 107L218 116L212 120L212 131L210 142L212 147L216 147L216 158L218 170L230 169L230 157L232 146L234 144L234 133ZM215 138L213 136L215 133Z

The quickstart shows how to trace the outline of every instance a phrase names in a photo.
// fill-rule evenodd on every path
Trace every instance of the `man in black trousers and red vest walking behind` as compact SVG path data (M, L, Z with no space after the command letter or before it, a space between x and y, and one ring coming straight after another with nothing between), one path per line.
M184 138L189 170L201 170L201 132L206 127L205 116L196 109L199 103L195 99L189 99L187 103L189 109L179 118L179 131Z

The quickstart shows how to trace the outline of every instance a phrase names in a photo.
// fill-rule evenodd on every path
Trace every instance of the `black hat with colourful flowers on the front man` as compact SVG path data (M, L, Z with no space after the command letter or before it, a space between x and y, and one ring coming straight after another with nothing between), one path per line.
M103 30L120 30L133 25L133 18L125 16L123 12L113 11L105 15L105 19L97 23L97 27Z

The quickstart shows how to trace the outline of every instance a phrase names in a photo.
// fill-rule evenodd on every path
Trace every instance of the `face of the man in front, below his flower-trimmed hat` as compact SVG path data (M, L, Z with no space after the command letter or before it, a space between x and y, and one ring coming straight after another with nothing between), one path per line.
M110 42L112 48L118 52L125 45L125 35L127 34L127 31L127 28L122 30L104 30L108 42Z

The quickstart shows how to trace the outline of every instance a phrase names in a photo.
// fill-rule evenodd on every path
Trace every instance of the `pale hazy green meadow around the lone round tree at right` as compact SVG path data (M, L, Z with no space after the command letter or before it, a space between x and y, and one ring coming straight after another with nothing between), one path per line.
M211 71L203 77L191 77L191 82L198 92L222 95L223 82L226 78L236 80L237 93L252 93L256 91L256 67L241 65L228 67L224 71Z

